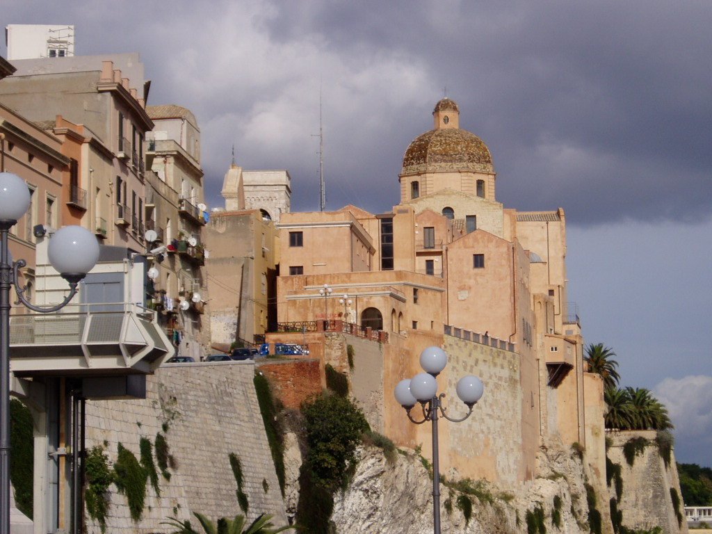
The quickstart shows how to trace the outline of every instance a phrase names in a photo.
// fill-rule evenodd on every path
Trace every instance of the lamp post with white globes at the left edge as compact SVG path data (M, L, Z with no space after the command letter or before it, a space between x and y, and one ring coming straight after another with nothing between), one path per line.
M12 261L9 231L30 206L27 184L16 174L0 172L0 534L10 534L10 287L30 310L51 313L66 306L77 293L79 281L99 258L96 238L80 226L56 231L48 246L49 261L69 282L69 295L58 305L39 308L26 300L19 286L19 270L26 261Z

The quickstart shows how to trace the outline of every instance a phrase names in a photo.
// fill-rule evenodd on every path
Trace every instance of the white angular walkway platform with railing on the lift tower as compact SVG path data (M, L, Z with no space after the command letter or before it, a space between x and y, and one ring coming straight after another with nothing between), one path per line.
M175 350L155 313L28 313L10 320L10 370L16 377L152 373Z

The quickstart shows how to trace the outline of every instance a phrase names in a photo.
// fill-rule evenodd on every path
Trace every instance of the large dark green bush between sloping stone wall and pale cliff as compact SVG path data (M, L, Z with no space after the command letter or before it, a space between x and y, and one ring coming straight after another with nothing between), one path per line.
M361 410L337 394L320 394L301 412L307 453L297 518L306 531L328 534L333 494L347 486L356 468L356 446L370 428Z

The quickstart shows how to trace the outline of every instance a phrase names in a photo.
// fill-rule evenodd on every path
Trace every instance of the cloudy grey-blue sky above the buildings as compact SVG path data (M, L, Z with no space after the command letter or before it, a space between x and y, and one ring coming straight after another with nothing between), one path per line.
M234 144L318 209L321 93L328 209L387 211L446 93L499 201L565 209L587 342L664 399L679 461L712 465L712 2L9 0L2 23L139 52L149 103L197 116L211 206Z

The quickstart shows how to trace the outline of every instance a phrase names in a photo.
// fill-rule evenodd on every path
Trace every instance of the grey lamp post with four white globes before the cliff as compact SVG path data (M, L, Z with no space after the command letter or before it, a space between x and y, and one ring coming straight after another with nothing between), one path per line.
M433 428L433 533L440 534L440 466L438 451L438 412L448 421L459 423L470 417L472 407L481 399L484 392L482 381L473 375L467 375L457 382L457 396L468 407L468 412L459 419L449 417L447 409L443 406L442 399L445 394L437 394L438 384L435 377L447 365L447 354L440 347L427 347L420 353L420 366L425 372L415 375L412 379L398 382L395 387L395 397L404 407L408 419L415 424L431 422ZM423 419L417 420L410 414L415 403L419 402L423 412Z

